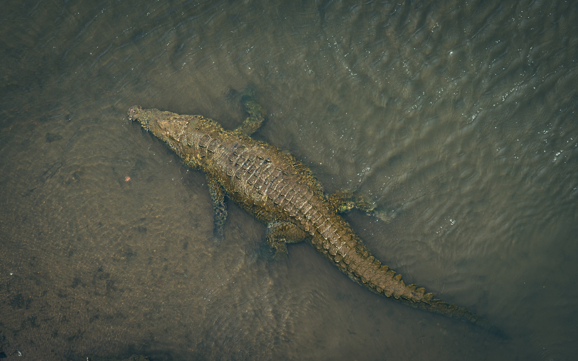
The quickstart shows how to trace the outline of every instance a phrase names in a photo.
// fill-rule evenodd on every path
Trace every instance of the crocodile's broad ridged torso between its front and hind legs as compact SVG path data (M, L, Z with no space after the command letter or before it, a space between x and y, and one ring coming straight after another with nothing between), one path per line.
M301 162L270 144L235 138L206 146L208 152L214 151L206 172L218 178L235 203L265 223L301 223L297 216L308 203L328 211L323 190Z

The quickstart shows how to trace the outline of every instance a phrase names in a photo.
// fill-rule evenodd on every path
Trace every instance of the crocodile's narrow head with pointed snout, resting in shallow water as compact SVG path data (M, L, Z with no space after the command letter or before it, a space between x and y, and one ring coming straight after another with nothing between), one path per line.
M178 147L180 137L184 133L184 128L189 124L191 118L179 116L170 111L158 109L143 109L135 105L128 110L129 120L137 120L142 127L153 133L158 139L169 143L171 147Z

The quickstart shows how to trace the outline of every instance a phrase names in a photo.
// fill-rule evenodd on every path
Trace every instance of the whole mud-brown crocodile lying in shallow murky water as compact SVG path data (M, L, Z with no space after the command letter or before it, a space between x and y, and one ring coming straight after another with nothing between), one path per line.
M406 285L401 274L383 265L340 213L368 202L350 192L326 196L312 171L288 152L253 140L250 135L264 121L264 110L251 96L243 96L249 117L233 131L210 118L180 115L135 105L131 121L168 144L185 165L206 173L214 203L216 240L223 238L227 218L225 196L267 225L266 242L276 255L287 253L287 243L308 240L351 280L370 291L420 308L501 332L466 308L436 299L415 284Z

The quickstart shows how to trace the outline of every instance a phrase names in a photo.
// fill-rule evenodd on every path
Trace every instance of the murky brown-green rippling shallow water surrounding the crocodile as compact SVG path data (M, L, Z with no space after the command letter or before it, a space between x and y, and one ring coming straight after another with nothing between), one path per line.
M1 7L9 360L575 357L575 2ZM232 129L247 84L256 139L376 202L346 218L383 263L509 339L374 295L306 243L272 260L232 203L214 244L203 174L126 111Z

